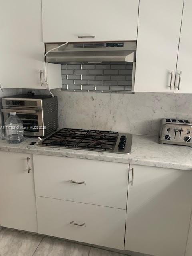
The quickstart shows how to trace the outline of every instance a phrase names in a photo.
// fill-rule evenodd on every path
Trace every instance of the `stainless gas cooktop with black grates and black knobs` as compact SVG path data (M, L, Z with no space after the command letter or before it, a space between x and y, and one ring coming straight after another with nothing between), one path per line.
M132 134L129 133L64 128L44 139L38 146L129 154L131 144Z

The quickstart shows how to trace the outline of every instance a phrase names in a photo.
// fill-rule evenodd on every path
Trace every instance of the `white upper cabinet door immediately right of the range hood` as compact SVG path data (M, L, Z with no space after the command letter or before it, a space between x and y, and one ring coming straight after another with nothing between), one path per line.
M173 92L183 0L140 0L135 92Z

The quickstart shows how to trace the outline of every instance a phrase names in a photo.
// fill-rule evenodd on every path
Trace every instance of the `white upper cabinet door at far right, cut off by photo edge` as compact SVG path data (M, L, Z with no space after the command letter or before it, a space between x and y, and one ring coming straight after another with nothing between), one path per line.
M178 52L176 93L192 93L192 1L184 1L181 35Z

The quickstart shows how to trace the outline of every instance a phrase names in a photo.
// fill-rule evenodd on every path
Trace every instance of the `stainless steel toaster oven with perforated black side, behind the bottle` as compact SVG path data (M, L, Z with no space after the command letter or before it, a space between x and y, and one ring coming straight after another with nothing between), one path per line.
M16 95L2 98L4 122L15 111L24 124L25 136L45 137L58 128L57 97Z

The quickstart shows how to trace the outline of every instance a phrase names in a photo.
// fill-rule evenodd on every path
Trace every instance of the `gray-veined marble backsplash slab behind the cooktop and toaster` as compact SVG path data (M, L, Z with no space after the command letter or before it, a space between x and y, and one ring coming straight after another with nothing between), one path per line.
M16 90L7 89L4 95L14 94L13 91L15 93ZM22 90L22 94L28 91ZM35 92L49 94L47 90ZM158 135L161 118L184 118L192 121L192 94L108 94L63 92L59 89L52 92L58 96L60 128Z

